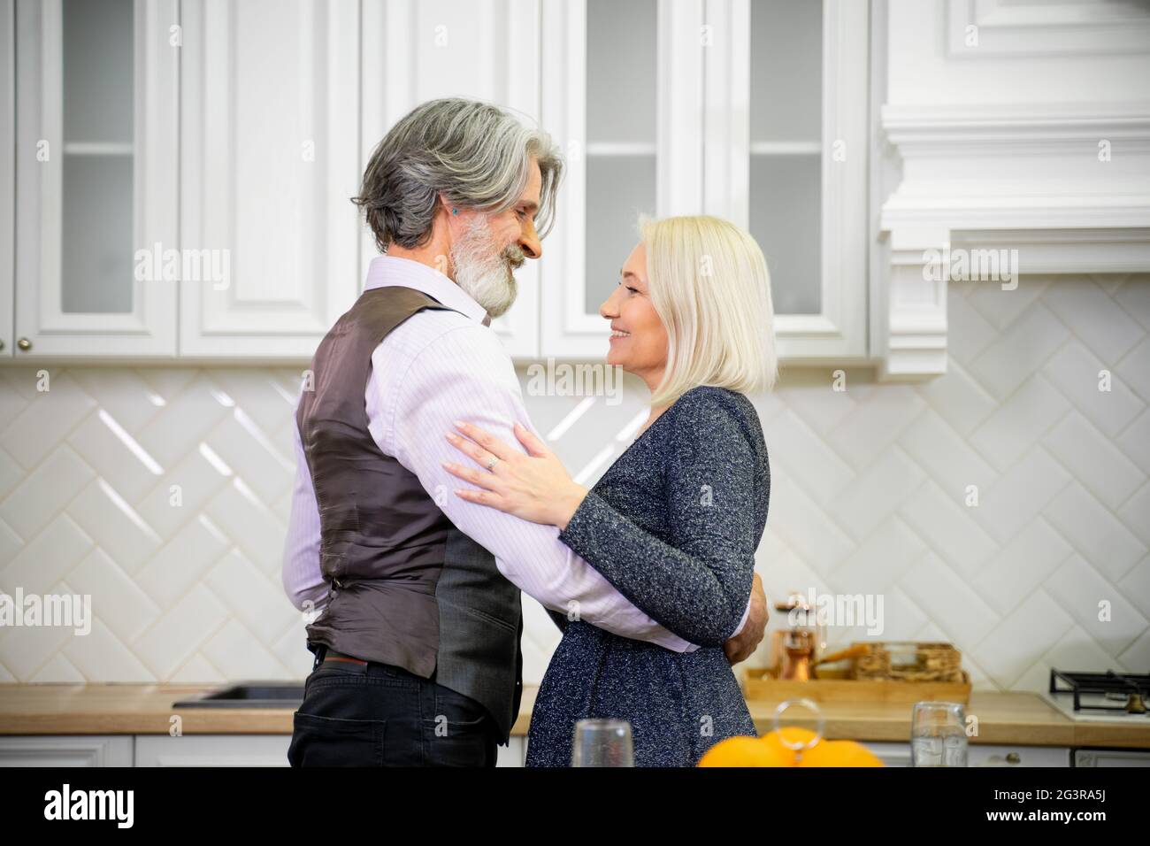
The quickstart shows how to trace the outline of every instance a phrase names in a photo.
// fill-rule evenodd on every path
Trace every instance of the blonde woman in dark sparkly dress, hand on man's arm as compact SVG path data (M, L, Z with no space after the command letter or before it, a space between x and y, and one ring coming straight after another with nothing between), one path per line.
M715 218L645 222L599 313L612 329L607 364L647 384L651 413L595 487L572 481L521 426L527 455L461 426L453 443L482 470L448 470L480 488L460 497L558 526L637 607L700 645L672 651L555 616L564 637L536 699L528 765L569 764L575 722L590 717L630 722L637 765L693 765L713 744L756 733L723 641L751 592L770 494L745 396L776 378L762 252Z

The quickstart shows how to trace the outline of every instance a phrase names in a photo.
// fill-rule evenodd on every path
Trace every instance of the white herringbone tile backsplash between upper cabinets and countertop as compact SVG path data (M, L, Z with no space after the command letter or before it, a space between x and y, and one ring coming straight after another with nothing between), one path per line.
M949 297L945 376L880 384L848 368L834 391L831 367L788 369L754 397L768 595L882 594L883 639L952 641L981 687L1042 689L1051 665L1145 672L1150 277ZM49 368L47 392L36 371L0 368L0 590L91 594L94 622L85 637L0 628L0 681L306 676L279 582L298 369ZM596 399L553 444L568 470L597 478L644 398L628 376L622 403ZM581 402L527 396L543 434ZM524 610L532 683L558 632Z

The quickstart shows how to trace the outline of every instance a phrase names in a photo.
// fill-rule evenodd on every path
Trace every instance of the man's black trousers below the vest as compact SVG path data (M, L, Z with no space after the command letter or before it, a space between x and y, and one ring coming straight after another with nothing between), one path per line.
M391 664L315 664L294 716L292 767L494 767L497 729L469 696Z

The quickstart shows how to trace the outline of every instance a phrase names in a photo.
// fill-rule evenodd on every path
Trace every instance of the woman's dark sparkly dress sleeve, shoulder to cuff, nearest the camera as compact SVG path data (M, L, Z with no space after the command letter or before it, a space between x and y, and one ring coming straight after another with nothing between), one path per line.
M754 578L754 451L734 411L691 397L668 421L664 505L672 542L591 491L559 539L678 637L722 646Z

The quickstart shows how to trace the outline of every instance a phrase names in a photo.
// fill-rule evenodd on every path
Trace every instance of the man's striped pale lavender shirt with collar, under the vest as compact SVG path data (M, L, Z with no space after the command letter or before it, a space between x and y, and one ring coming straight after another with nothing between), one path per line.
M496 557L513 585L562 613L613 634L645 640L674 651L698 649L672 634L615 590L590 564L559 540L555 526L529 523L455 496L466 482L442 462L465 463L444 435L453 420L481 426L519 444L514 421L535 432L523 407L519 379L498 336L483 323L486 312L459 285L432 267L379 256L371 260L365 290L384 285L414 288L457 311L423 311L397 327L371 355L367 383L368 428L384 455L414 473L447 518ZM320 570L320 510L307 470L299 427L298 471L284 548L283 584L292 603L320 609L328 584ZM742 631L747 610L743 613Z

